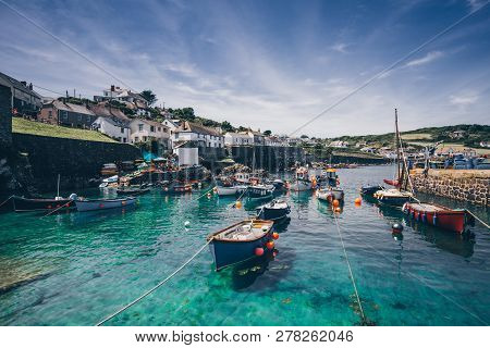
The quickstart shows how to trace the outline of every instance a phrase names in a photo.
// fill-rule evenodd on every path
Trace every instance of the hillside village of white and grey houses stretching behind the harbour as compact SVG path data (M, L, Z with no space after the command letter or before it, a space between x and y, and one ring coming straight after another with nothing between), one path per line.
M158 152L179 148L225 148L233 146L298 146L306 151L327 150L329 153L351 153L394 159L393 135L339 137L322 139L302 135L290 137L260 132L249 127L234 127L229 122L199 117L192 108L155 107L157 96L150 90L135 92L119 86L102 89L90 99L75 96L58 99L41 97L33 84L20 82L0 73L0 85L12 90L12 114L33 122L63 127L91 129L119 142L155 149ZM403 133L406 150L420 153L425 147L438 142L436 154L488 154L490 126L461 125ZM468 139L470 141L468 141Z

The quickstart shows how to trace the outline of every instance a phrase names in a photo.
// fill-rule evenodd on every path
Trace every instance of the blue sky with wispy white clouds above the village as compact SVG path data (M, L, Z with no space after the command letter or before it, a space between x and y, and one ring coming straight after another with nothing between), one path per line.
M0 0L0 71L88 98L110 85L151 89L158 105L275 134L389 133L394 108L401 130L488 125L490 4Z

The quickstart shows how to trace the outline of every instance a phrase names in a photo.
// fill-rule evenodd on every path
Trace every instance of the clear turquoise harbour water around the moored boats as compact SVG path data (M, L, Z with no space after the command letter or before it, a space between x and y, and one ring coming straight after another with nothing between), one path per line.
M339 224L366 316L376 325L487 325L489 231L477 223L475 236L463 238L411 224L396 210L366 201L355 207L360 185L392 173L389 166L339 171L346 194ZM254 211L226 209L233 199L196 200L198 195L155 191L126 211L1 214L0 274L25 282L0 293L0 325L94 325L172 273L208 233ZM329 206L311 192L284 197L291 221L280 228L274 260L217 273L205 249L107 324L358 325ZM433 199L489 221L483 208ZM402 241L392 237L394 222L406 224Z

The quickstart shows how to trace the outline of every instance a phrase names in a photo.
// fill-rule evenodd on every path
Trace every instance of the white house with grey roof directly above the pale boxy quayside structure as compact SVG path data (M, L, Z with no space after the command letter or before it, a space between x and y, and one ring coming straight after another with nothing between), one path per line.
M199 147L223 148L224 137L212 128L185 121L173 134L172 140L196 141Z

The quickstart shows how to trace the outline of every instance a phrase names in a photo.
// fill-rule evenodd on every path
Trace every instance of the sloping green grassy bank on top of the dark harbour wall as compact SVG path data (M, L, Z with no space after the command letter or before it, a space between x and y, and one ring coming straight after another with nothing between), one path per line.
M12 117L12 133L89 141L118 142L96 130L78 129Z

